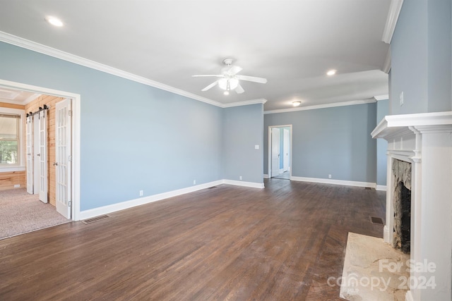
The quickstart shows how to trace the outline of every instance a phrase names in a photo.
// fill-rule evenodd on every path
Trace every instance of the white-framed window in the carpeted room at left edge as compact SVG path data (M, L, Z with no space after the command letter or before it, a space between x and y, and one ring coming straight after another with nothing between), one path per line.
M23 110L0 108L0 168L23 165Z

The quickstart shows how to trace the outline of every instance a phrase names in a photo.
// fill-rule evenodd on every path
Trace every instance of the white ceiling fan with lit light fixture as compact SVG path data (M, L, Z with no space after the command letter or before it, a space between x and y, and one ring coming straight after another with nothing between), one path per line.
M210 90L212 87L215 87L215 85L218 85L222 90L225 90L224 94L229 94L230 90L235 90L238 94L241 94L245 92L243 90L242 85L240 85L239 80L246 80L249 82L258 82L261 84L265 84L267 82L266 78L256 78L255 76L249 76L249 75L238 75L240 71L242 71L242 68L239 66L232 66L232 59L224 59L223 63L226 65L221 69L221 74L203 74L203 75L193 75L194 78L201 77L201 76L212 76L215 78L219 78L218 80L215 80L215 82L212 82L210 85L205 87L203 92Z

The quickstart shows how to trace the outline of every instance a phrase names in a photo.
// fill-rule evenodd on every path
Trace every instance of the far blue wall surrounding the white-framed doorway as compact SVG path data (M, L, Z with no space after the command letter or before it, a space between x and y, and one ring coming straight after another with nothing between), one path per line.
M268 126L292 124L292 176L376 183L376 104L264 115L263 168L268 174Z

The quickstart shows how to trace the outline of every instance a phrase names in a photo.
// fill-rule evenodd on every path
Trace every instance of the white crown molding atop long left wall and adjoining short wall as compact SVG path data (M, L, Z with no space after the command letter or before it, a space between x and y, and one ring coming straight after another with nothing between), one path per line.
M52 56L57 59L62 59L64 61L69 61L71 63L76 63L80 66L85 66L88 68L92 68L95 70L99 70L105 73L109 73L112 75L119 76L120 78L126 78L128 80L133 80L134 82L140 82L143 85L148 85L150 87L155 87L160 90L165 90L167 92L172 92L174 94L178 94L184 97L188 97L190 99L198 100L199 102L205 102L206 104L212 104L213 106L219 106L220 108L228 108L230 106L246 106L249 104L265 104L267 102L266 99L255 99L248 100L244 102L233 102L231 104L222 104L221 102L216 102L215 100L208 99L206 97L201 97L199 95L186 92L184 90L177 89L175 87L171 87L169 85L162 84L161 82L156 82L155 80L150 80L148 78L144 78L140 75L135 75L133 73L126 72L121 69L113 68L111 66L104 65L103 63L97 63L96 61L91 61L89 59L85 59L81 56L76 56L74 54L70 54L66 51L61 51L59 49L55 49L52 47L48 47L46 45L30 41L29 39L23 39L22 37L17 37L15 35L8 34L7 32L0 31L0 41L8 44L16 45L18 47L22 47L25 49L29 49L32 51L39 52L40 54L46 54L48 56Z

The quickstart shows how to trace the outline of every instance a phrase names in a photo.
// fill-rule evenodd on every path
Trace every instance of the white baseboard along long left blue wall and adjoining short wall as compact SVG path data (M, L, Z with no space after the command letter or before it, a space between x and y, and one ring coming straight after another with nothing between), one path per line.
M263 183L254 183L254 182L243 182L243 181L237 181L237 180L216 180L209 183L204 183L200 185L194 185L187 188L182 188L178 190L172 190L169 192L163 192L159 193L157 195L149 195L147 197L140 197L138 199L131 199L126 202L120 202L117 204L111 204L103 207L98 207L94 209L88 209L85 211L81 211L80 214L78 214L78 221L83 219L91 219L95 216L100 216L102 214L109 214L115 211L120 211L124 209L129 209L132 207L140 206L143 204L148 204L152 202L157 202L162 199L167 199L169 197L177 197L178 195L185 195L189 192L195 192L198 190L210 188L216 185L221 184L227 184L227 185L236 185L236 186L244 186L249 188L263 188Z

